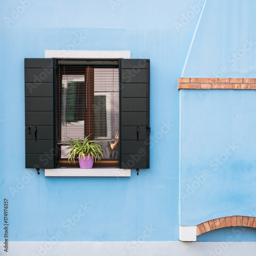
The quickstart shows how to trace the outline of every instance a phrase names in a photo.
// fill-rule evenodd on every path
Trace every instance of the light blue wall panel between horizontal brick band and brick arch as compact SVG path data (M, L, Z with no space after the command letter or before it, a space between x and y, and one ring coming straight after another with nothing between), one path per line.
M255 216L255 97L181 91L181 225Z

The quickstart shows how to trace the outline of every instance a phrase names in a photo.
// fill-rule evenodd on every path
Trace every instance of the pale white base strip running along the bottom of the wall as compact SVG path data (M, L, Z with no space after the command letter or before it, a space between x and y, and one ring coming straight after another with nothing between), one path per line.
M8 256L254 256L256 242L9 242Z

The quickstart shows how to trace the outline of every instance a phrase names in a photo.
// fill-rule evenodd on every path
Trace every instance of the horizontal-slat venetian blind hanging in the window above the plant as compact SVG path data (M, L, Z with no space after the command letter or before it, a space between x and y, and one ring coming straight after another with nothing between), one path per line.
M58 60L57 142L90 136L111 141L119 130L118 61Z

